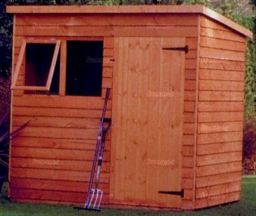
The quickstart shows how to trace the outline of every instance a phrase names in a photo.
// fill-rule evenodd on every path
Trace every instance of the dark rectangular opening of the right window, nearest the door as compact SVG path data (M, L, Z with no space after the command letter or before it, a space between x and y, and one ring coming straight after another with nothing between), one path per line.
M102 41L67 41L67 96L101 96Z

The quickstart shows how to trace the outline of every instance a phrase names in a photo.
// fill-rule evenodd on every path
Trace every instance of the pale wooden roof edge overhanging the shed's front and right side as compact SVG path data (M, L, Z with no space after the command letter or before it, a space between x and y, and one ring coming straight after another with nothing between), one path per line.
M236 32L253 38L253 32L232 22L203 5L51 5L51 6L7 6L7 13L196 13L232 28Z

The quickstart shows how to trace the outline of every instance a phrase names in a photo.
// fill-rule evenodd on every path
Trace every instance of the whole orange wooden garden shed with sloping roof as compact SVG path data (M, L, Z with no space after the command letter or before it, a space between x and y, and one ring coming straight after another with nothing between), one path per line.
M241 199L245 42L203 6L8 6L12 201L82 205L106 88L105 206ZM165 193L161 193L166 192Z

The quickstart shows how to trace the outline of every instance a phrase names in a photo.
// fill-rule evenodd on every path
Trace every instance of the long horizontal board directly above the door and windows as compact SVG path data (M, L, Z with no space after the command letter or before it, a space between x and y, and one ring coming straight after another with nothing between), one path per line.
M55 29L36 29L32 26L16 26L15 36L117 36L117 37L196 37L196 26L168 28L146 28L145 26L59 26Z

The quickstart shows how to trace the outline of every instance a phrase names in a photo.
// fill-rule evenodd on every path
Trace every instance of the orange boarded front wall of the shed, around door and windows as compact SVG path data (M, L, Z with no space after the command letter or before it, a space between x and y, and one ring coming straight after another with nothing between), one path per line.
M104 57L113 57L113 36L186 37L189 53L185 55L182 170L185 197L182 205L193 209L197 22L197 15L140 15L139 19L131 14L129 19L128 15L15 15L13 63L15 66L24 38L55 38L63 42L105 37ZM56 28L41 28L47 24ZM112 87L112 76L113 63L104 63L104 88ZM21 76L20 83L22 79ZM22 90L13 90L12 96L12 129L27 120L31 123L11 144L11 199L32 203L84 203L97 135L86 127L88 124L98 126L103 98L33 97L24 96ZM106 115L111 117L111 100L108 105ZM59 166L33 164L33 159L59 160ZM110 134L101 175L101 188L106 194L109 161Z

